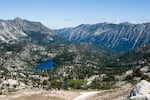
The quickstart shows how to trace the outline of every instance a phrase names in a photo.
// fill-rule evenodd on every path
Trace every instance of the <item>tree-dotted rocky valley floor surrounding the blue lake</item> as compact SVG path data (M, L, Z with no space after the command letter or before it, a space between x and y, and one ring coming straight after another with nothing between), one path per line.
M4 63L12 61L13 63L22 63L22 65L13 65L11 62L9 67L13 69L22 68L15 72L23 73L26 76L26 78L24 78L18 74L14 76L14 78L19 77L19 80L25 84L32 82L33 87L38 88L115 88L114 86L118 81L116 76L121 76L125 71L130 69L133 69L133 74L127 75L125 79L120 80L136 84L138 82L135 79L136 77L150 81L150 78L140 71L141 67L148 65L150 62L149 51L147 49L148 48L142 48L141 50L138 49L138 51L132 51L122 55L107 53L101 48L89 44L50 44L44 46L26 42L12 44L11 46L4 44L0 49L2 51L0 52L0 57L3 61L0 65L2 66L0 70L4 71L4 73L1 74L1 78L3 78L3 76L7 76L8 78L11 76ZM24 53L25 55L23 55ZM54 68L52 70L32 73L32 68L36 62L46 59L53 60ZM101 78L102 74L106 76ZM85 80L93 75L99 75L99 77L90 85L86 85L87 82Z

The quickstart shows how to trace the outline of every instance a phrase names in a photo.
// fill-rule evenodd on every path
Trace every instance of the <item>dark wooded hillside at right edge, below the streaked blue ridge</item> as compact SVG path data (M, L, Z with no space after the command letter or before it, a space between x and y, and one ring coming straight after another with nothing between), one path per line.
M143 45L135 48L118 58L118 63L126 67L136 67L141 65L149 66L150 62L150 45Z

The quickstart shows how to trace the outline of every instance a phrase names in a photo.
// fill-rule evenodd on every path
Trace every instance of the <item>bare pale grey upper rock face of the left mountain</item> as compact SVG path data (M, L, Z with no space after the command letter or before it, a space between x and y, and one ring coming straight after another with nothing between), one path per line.
M31 22L20 18L14 20L0 20L0 42L9 43L13 40L20 40L23 37L33 37L35 35L49 36L52 40L53 32L40 22Z

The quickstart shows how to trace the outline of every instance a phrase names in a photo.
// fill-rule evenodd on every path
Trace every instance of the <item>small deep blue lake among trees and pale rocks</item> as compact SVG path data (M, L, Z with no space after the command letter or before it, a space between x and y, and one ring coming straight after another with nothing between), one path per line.
M41 61L38 62L37 66L34 67L34 70L50 70L53 67L53 61L47 60L47 61Z

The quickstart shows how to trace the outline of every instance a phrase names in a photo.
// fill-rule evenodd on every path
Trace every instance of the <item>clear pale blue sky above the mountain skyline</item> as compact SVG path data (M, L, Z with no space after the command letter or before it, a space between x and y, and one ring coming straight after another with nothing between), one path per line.
M20 17L49 28L100 22L150 22L150 0L0 0L0 19Z

